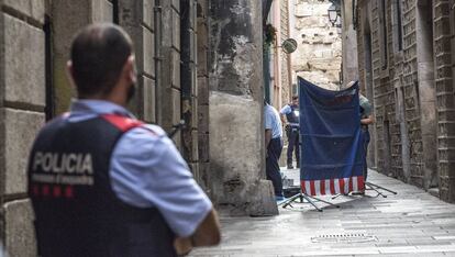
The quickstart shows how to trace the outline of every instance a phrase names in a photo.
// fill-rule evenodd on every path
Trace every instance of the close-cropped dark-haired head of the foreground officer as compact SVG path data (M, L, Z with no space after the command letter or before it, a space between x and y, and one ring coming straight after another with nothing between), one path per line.
M102 23L81 30L70 51L79 98L110 93L132 54L132 41L120 26Z

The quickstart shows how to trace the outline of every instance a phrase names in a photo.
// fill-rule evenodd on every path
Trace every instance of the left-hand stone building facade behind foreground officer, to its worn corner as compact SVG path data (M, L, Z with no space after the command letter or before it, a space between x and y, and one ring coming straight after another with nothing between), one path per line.
M173 138L214 203L231 214L277 213L258 150L260 3L0 0L0 242L11 256L36 256L29 149L40 127L68 110L70 42L95 22L116 23L132 36L138 90L130 109L168 132L185 120Z

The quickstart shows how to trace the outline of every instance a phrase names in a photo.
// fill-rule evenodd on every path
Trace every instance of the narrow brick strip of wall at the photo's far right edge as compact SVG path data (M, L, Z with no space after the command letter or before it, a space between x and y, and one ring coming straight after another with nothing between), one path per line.
M436 1L434 4L437 107L437 160L440 197L455 202L455 1ZM448 30L450 29L450 30Z

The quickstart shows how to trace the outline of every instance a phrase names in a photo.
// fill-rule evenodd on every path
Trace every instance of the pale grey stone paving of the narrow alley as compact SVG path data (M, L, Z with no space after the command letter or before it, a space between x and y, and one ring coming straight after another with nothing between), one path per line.
M288 177L297 172L285 171ZM220 246L191 256L455 256L455 205L399 180L370 171L370 182L398 192L324 198L279 208L270 217L222 216Z

